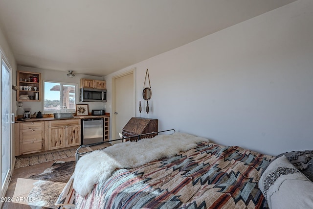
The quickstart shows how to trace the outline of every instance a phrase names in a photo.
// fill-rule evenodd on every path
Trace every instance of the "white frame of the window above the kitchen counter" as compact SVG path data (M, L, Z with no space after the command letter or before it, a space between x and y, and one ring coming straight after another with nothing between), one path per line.
M50 81L50 80L43 80L43 112L45 114L52 114L52 113L57 113L60 111L60 109L58 110L45 110L45 82L49 82L49 83L58 83L60 84L60 103L62 104L63 102L63 98L61 98L61 93L62 93L62 87L63 85L71 85L71 86L75 86L75 106L78 102L78 96L79 96L79 89L78 89L78 84L77 83L68 83L68 82L61 82L61 81ZM76 109L67 109L67 113L75 113Z

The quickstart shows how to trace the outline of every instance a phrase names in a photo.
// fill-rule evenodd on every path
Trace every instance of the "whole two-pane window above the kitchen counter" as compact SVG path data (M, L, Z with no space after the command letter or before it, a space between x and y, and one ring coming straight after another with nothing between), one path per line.
M44 81L44 112L60 111L75 112L77 84Z

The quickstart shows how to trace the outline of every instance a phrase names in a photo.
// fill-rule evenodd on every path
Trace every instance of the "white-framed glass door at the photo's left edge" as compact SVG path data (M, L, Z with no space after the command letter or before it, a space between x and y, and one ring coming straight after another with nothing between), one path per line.
M1 61L1 197L8 186L8 177L11 171L11 123L14 114L11 114L11 70L0 53Z

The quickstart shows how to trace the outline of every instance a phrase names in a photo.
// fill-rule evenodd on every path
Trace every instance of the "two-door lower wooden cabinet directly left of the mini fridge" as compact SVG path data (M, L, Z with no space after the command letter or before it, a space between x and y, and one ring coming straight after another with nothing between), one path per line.
M53 150L81 144L80 119L45 122L45 149Z

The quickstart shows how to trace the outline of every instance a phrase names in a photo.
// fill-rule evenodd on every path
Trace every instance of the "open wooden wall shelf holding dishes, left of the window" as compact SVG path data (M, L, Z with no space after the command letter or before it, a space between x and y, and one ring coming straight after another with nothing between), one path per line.
M41 73L17 72L17 101L40 102L42 98Z

